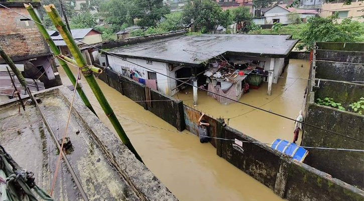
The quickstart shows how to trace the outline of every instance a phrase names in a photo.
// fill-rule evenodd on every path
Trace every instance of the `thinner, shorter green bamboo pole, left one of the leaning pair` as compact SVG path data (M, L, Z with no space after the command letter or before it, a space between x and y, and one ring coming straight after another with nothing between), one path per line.
M31 4L24 4L24 7L28 10L29 15L32 17L32 19L36 22L35 24L37 25L39 32L42 34L42 36L46 39L50 49L52 50L52 52L54 53L55 56L59 56L61 55L61 52L59 51L59 49L57 48L56 44L53 42L52 38L49 36L47 30L43 27L42 22L40 20L40 18L38 17L38 15L35 13L34 8ZM67 63L65 61L63 61L62 59L58 58L59 64L62 66L63 70L66 72L68 78L71 80L71 83L73 85L75 85L76 83L76 78L73 75L72 71L69 69ZM66 59L65 59L66 60ZM91 112L93 114L96 115L96 112L93 110L91 103L89 102L85 92L82 90L80 85L77 85L76 90L78 92L78 94L80 95L83 103L85 104L85 106L91 110ZM97 116L97 115L96 115Z

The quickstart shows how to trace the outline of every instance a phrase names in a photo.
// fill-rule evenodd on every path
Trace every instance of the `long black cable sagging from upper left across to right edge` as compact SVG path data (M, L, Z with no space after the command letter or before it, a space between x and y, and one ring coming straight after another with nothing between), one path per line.
M33 19L30 19L30 18L28 18L27 16L24 16L24 15L22 15L22 14L20 14L20 13L16 12L16 11L14 11L14 10L12 10L12 9L10 9L10 8L8 8L8 7L4 6L4 5L2 5L2 4L0 4L0 6L2 6L2 7L4 7L4 8L6 8L6 9L8 9L8 10L10 10L10 11L13 11L14 13L17 13L18 15L23 16L23 17L25 17L25 18L27 18L27 19L29 19L29 20L31 20L31 21L33 21L33 22L35 22L35 23L38 23L38 22L34 21ZM50 28L50 27L48 27L48 26L46 26L46 25L44 25L44 24L42 24L42 23L38 23L38 24L40 24L40 25L42 25L42 26L44 26L44 27L46 27L46 28L48 28L48 29L50 29L50 30L53 30L53 31L56 31L57 33L59 33L59 32L58 32L58 30L54 30L54 29L52 29L52 28ZM329 131L329 130L327 130L327 129L324 129L324 128L321 128L321 127L318 127L318 126L315 126L315 125L312 125L312 124L308 124L308 123L305 123L305 122L297 121L297 120L292 119L292 118L290 118L290 117L286 117L286 116L284 116L284 115L280 115L280 114L278 114L278 113L274 113L274 112L271 112L271 111L268 111L268 110L264 110L264 109L261 109L261 108L259 108L259 107L252 106L252 105L250 105L250 104L246 104L246 103L240 102L240 101L238 101L238 100L234 100L234 99L232 99L232 98L229 98L229 97L226 97L226 96L220 95L220 94L218 94L218 93L215 93L215 92L212 92L212 91L209 91L209 90L206 90L206 89L200 88L200 87L198 87L198 86L194 86L193 84L190 84L190 83L188 83L188 82L185 82L185 81L179 80L179 79L174 78L174 77L171 77L171 76L169 76L169 75L165 75L165 74L160 73L160 72L158 72L158 71L155 71L155 70L153 70L153 69L150 69L150 68L147 68L147 67L145 67L145 66L139 65L139 64L137 64L137 63L135 63L135 62L128 61L127 59L125 59L125 58L123 58L123 57L120 57L120 56L115 55L115 54L113 54L113 53L106 52L106 51L104 51L104 50L102 50L102 49L100 49L100 48L98 48L98 47L95 47L95 46L93 46L93 45L87 44L87 43L85 43L85 42L83 42L83 41L81 41L81 40L78 40L78 39L74 39L74 40L75 40L75 41L78 41L78 42L80 42L80 43L82 43L82 44L84 44L84 45L87 45L87 46L89 46L89 47L92 47L92 48L94 48L94 49L97 49L97 50L99 50L99 51L101 51L101 52L103 52L103 53L106 53L106 54L109 54L109 55L114 56L114 57L116 57L116 58L119 58L119 59L122 59L122 60L124 60L124 61L127 61L128 63L134 64L134 65L136 65L136 66L140 66L140 67L142 67L142 68L144 68L144 69L147 69L147 70L149 70L149 71L151 71L151 72L155 72L155 73L157 73L157 74L160 74L160 75L162 75L162 76L168 77L168 78L170 78L170 79L174 79L174 80L176 80L176 81L180 81L180 82L182 82L182 83L184 83L184 84L191 85L192 87L196 87L196 88L198 88L198 89L200 89L200 90L203 90L203 91L206 91L206 92L209 92L209 93L212 93L212 94L215 94L215 95L221 96L221 97L226 98L226 99L228 99L228 100L231 100L231 101L233 101L233 102L236 102L236 103L239 103L239 104L242 104L242 105L245 105L245 106L249 106L249 107L251 107L251 108L254 108L254 109L257 109L257 110L260 110L260 111L263 111L263 112L266 112L266 113L269 113L269 114L272 114L272 115L276 115L276 116L281 117L281 118L284 118L284 119L288 119L288 120L291 120L291 121L294 121L294 122L298 122L298 123L301 123L301 124L304 124L304 125L307 125L307 126L311 126L311 127L313 127L313 128L316 128L316 129L319 129L319 130L322 130L322 131L325 131L325 132L328 132L328 133L332 133L332 134L335 134L335 135L339 135L339 136L342 136L342 137L345 137L345 138L349 138L349 139L352 139L352 140L355 140L355 141L364 142L363 140L360 140L360 139L357 139L357 138L353 138L353 137L351 137L351 136L346 136L346 135L343 135L343 134L340 134L340 133L337 133L337 132L334 132L334 131Z

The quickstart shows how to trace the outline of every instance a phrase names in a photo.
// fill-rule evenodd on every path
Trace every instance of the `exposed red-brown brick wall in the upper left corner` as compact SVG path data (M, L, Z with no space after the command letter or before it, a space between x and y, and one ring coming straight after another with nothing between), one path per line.
M30 18L25 8L11 9ZM49 48L34 22L4 8L0 8L0 19L0 45L14 60L49 53Z

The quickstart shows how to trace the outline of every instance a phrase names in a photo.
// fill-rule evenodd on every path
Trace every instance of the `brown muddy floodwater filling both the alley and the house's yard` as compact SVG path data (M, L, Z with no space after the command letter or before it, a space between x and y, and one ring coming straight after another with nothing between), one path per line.
M304 65L303 68L301 64ZM74 74L77 73L74 67L70 68ZM307 78L308 69L308 62L291 60L283 76ZM63 84L70 85L63 69L58 68L58 70ZM211 144L201 144L196 136L172 132L177 131L173 126L144 110L133 100L123 96L101 80L97 79L97 82L147 167L178 199L182 201L283 200L270 188L217 156L216 149ZM81 79L81 83L100 120L114 131L86 81ZM243 95L240 100L254 106L266 104L262 108L294 118L301 110L306 83L307 80L280 79L278 84L273 85L272 96L266 95L265 83L260 89L251 90L250 93ZM190 91L191 89L186 89L179 93L178 97L182 100L192 99ZM214 117L220 115L234 117L252 110L237 104L220 105L202 91L198 95L197 108ZM184 103L192 105L189 101ZM294 124L279 117L253 111L231 119L229 126L252 135L258 140L272 142L279 137L291 139ZM184 132L188 133L188 131Z

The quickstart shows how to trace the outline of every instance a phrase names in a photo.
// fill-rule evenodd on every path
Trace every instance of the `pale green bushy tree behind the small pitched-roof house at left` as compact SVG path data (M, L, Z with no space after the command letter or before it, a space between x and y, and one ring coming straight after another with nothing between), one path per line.
M97 25L96 15L90 12L82 12L75 15L70 22L71 29L93 28Z

